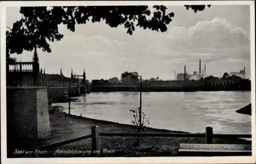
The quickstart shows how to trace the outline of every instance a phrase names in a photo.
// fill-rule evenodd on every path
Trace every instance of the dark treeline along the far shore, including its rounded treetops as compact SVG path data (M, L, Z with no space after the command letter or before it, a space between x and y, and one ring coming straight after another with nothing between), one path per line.
M209 76L199 80L142 80L142 91L214 91L214 90L250 90L250 80L238 76L223 74L222 78ZM124 72L121 79L92 80L91 91L139 91L140 80L137 72Z

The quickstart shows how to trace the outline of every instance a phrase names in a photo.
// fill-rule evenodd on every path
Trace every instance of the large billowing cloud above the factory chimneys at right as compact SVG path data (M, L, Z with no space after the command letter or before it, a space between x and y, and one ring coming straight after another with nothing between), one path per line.
M155 40L149 46L150 50L158 48L160 51L164 50L165 55L176 58L179 58L179 52L182 52L182 57L190 61L199 58L205 61L250 58L249 35L220 17L199 21L191 27L170 28L164 39Z

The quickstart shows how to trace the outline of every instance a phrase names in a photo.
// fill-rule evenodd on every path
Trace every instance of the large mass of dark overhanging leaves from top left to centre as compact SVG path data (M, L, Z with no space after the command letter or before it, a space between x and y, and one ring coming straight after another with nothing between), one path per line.
M156 6L156 9L159 10L160 7ZM165 7L161 6L161 10L164 11ZM114 28L123 25L127 29L127 34L130 35L135 31L134 22L136 21L141 25L139 27L151 30L160 29L163 24L166 24L166 22L158 21L155 28L151 28L151 25L148 24L151 20L145 19L146 15L152 14L147 6L57 6L50 9L47 7L21 7L19 12L23 14L23 18L13 24L11 34L7 37L7 53L21 54L24 50L32 51L30 46L34 47L34 45L38 45L38 48L42 48L43 51L51 52L48 41L59 41L63 37L58 32L58 25L67 25L67 29L75 32L75 25L86 24L89 17L92 18L92 22L105 20L107 25ZM161 16L159 10L158 19L164 16L166 15ZM28 27L28 31L20 30L24 25ZM35 31L37 33L34 33ZM24 39L24 37L28 39ZM42 40L37 38L42 38ZM11 40L15 40L15 42L10 42ZM17 45L19 48L15 47Z

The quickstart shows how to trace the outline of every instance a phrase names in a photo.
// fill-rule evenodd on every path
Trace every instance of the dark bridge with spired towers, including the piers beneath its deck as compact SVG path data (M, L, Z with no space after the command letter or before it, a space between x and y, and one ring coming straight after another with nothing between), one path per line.
M83 75L73 75L71 69L71 77L64 76L61 68L60 74L46 74L45 69L43 72L42 68L39 68L36 49L31 62L7 61L6 63L7 88L47 87L49 104L66 102L68 95L76 97L84 93L90 93L90 85L84 70Z

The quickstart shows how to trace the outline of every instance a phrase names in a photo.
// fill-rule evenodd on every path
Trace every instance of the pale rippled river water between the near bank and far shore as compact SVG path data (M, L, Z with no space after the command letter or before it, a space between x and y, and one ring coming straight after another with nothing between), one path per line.
M131 124L130 109L139 107L139 92L93 92L72 99L71 114ZM251 102L250 91L143 92L142 111L149 127L214 133L250 134L251 116L236 110ZM56 103L68 112L68 103Z

